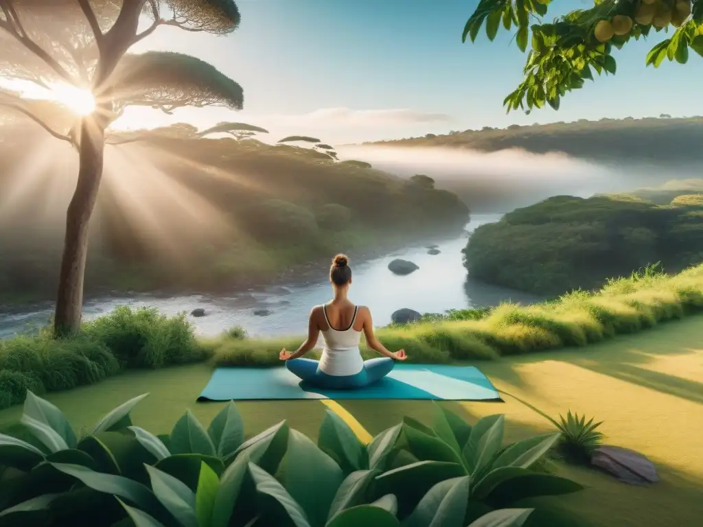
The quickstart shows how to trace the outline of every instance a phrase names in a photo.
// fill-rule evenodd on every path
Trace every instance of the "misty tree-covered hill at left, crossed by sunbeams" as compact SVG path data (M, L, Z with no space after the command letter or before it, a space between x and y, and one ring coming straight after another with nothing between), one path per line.
M0 136L0 296L51 298L75 152L32 151L36 138L20 129ZM468 219L451 192L309 148L153 137L105 156L88 292L225 290L341 250L458 232Z

